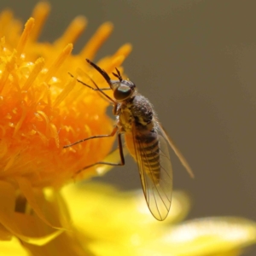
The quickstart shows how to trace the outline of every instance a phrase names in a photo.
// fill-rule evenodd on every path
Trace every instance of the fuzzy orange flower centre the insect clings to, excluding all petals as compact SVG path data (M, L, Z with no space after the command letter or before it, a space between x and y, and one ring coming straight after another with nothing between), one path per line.
M4 18L6 12L1 19L5 32L0 65L1 179L15 183L14 177L26 177L37 187L67 182L82 167L102 160L113 143L111 139L94 140L62 148L91 134L112 131L112 120L105 113L108 102L68 75L81 67L96 84L104 86L101 76L95 75L96 71L84 59L94 57L112 25L103 24L79 55L71 55L70 43L78 38L86 20L73 20L54 44L38 44L35 39L48 11L48 4L39 3L33 12L34 19L26 22L19 40L14 32L20 24ZM14 44L9 41L12 38L15 48L9 46ZM124 45L116 54L100 61L101 67L110 73L130 51L130 44ZM101 150L96 151L97 148Z

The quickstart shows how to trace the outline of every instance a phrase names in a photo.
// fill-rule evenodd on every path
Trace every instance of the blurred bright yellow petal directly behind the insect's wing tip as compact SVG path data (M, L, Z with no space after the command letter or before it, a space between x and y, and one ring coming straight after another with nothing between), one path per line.
M180 216L184 218L189 209L188 196L173 193L170 216L160 223L149 212L142 190L121 192L107 184L85 183L69 185L62 189L62 194L79 232L113 246L116 241L125 247L137 247L154 240L168 222L177 221Z

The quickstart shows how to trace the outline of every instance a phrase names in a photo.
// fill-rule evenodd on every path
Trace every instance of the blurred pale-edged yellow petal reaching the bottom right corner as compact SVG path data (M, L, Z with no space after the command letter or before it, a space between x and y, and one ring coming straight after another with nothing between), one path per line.
M236 255L256 242L256 223L245 218L200 218L177 225L161 237L175 255Z

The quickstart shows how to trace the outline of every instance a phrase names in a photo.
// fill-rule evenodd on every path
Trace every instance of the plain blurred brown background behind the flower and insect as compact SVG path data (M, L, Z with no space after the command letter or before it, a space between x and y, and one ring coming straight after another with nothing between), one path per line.
M1 1L21 20L35 1ZM195 172L172 154L174 189L191 196L189 218L241 216L256 220L256 2L254 0L51 0L42 41L61 36L77 15L89 20L74 53L106 20L114 32L96 60L121 44L134 49L125 73L150 99ZM137 165L97 178L140 188ZM254 255L251 250L247 255ZM256 250L255 250L256 251Z

